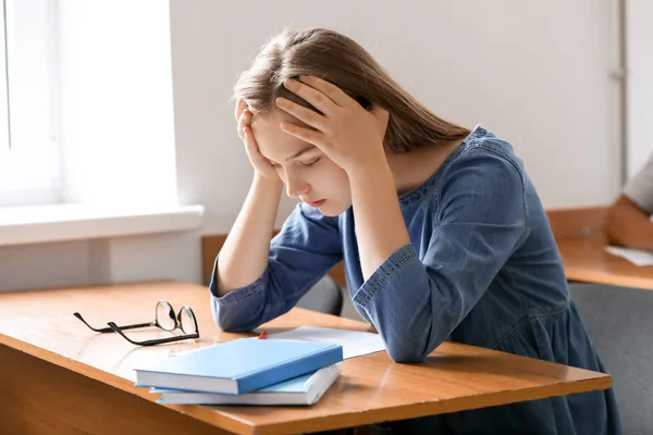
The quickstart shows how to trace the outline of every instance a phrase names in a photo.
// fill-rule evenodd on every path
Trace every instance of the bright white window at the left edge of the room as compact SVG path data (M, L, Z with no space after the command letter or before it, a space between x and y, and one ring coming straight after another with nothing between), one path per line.
M58 2L0 1L0 207L59 202Z

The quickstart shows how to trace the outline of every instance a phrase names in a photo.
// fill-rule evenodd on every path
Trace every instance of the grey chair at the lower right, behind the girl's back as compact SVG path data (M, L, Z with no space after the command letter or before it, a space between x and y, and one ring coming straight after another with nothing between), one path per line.
M653 434L653 291L597 284L569 291L613 376L624 434Z

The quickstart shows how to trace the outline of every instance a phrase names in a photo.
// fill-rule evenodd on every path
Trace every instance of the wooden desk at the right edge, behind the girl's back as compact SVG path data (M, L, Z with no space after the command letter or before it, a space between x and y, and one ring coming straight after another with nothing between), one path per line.
M568 281L653 290L653 266L638 266L605 251L601 236L557 240Z

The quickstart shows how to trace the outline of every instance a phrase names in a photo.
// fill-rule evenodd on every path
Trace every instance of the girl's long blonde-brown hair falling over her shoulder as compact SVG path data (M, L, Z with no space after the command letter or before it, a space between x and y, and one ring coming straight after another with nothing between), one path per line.
M266 44L249 70L234 86L234 97L252 113L266 114L284 97L309 107L288 91L283 82L299 75L321 77L357 99L390 112L384 146L389 151L412 149L464 139L470 130L436 116L412 98L350 38L325 28L285 29Z

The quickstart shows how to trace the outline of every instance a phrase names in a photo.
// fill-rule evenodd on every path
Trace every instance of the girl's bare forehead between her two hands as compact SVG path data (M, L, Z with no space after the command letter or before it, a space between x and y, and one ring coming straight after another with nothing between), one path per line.
M295 116L278 110L262 115L255 115L251 121L251 130L259 151L264 158L274 162L283 162L309 145L282 130L279 124L283 121L308 127L307 124Z

